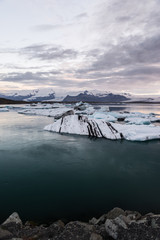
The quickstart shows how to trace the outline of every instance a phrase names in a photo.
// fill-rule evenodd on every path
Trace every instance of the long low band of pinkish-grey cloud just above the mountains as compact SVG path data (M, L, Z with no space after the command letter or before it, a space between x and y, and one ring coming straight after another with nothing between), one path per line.
M53 72L54 73L54 72ZM152 81L151 81L152 80ZM43 85L45 84L46 86L54 86L57 88L72 88L72 87L77 87L77 88L99 88L101 85L103 85L103 89L109 88L112 90L113 88L116 89L124 89L124 86L131 88L133 90L133 87L137 86L139 88L143 88L144 83L145 87L147 86L152 86L153 81L157 82L159 79L154 79L154 78L146 78L146 76L137 76L137 75L132 75L131 77L124 74L121 76L114 76L114 75L106 75L101 74L95 76L95 78L91 79L82 79L81 81L76 81L76 80L70 80L70 79L65 79L62 78L61 75L54 75L52 72L26 72L26 73L10 73L7 76L3 75L1 76L1 81L6 81L6 82L21 82L23 84L30 84L30 85Z

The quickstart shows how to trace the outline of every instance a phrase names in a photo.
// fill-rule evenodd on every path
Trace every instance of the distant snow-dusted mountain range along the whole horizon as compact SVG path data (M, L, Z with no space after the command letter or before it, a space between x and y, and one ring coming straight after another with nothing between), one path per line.
M53 89L24 90L0 94L0 98L26 102L160 102L160 97L137 97L128 93L100 92L96 90L72 92L68 94L56 94Z

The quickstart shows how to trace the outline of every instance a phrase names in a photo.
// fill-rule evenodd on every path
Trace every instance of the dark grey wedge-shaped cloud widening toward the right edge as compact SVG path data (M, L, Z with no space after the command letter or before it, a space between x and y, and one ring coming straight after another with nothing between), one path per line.
M138 42L138 40L137 40ZM112 46L90 65L87 71L111 70L137 64L160 63L160 35L147 38L140 43L123 42ZM85 72L85 68L81 72Z

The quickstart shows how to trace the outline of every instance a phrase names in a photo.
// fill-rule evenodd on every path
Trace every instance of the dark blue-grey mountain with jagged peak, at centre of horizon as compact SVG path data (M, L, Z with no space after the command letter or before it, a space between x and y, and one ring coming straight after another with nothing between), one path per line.
M63 102L121 102L121 101L126 101L129 100L129 98L120 95L120 94L112 94L108 93L105 95L93 95L93 94L88 94L87 91L84 93L80 93L77 96L70 96L67 95L64 99Z

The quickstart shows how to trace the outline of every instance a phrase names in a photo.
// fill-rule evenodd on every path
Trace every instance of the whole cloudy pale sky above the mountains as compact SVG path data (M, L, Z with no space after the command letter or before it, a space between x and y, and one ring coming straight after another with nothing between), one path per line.
M0 0L0 92L160 95L160 0Z

